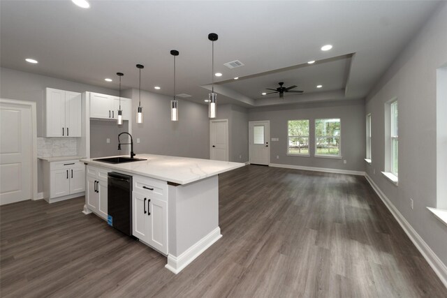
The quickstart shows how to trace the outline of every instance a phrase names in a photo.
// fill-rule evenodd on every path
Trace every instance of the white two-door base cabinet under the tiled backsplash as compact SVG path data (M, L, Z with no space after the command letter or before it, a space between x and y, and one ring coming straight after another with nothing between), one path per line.
M75 198L85 191L84 165L77 160L46 161L43 172L44 197L47 202Z

